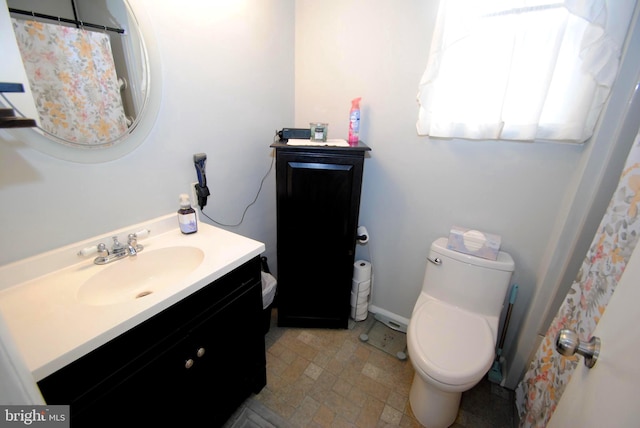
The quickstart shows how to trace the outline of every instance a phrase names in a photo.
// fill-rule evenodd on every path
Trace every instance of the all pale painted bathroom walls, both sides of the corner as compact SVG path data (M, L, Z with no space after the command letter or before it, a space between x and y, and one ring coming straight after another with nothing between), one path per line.
M346 138L350 101L362 96L361 139L373 150L360 224L371 235L374 305L410 316L429 245L452 225L498 233L520 285L505 350L522 366L557 287L547 279L552 265L559 263L552 273L561 277L568 264L549 261L549 254L567 257L553 237L581 206L603 199L595 203L603 210L608 201L593 190L589 201L576 202L577 189L592 191L584 177L601 173L592 164L615 130L594 139L598 147L418 137L416 94L435 1L135 2L153 24L162 61L162 105L151 134L122 159L83 165L36 152L0 130L0 264L176 210L177 195L195 179L197 152L209 157L205 212L236 222L270 165L274 130L323 121L330 138ZM5 10L0 0L0 20ZM0 51L11 43L0 28ZM631 75L623 86L632 86ZM615 102L619 108L625 97ZM611 156L617 163L624 157ZM231 229L265 242L272 269L275 211L272 173L243 226ZM570 230L568 239L584 234L590 241L590 227ZM368 256L362 249L359 255ZM531 327L518 342L529 309Z

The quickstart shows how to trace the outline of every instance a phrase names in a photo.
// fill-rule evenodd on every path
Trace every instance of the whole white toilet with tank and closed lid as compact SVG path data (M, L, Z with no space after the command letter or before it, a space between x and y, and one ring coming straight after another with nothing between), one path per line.
M513 270L513 259L503 251L488 260L447 249L446 238L431 244L407 328L415 369L409 402L425 427L453 424L462 393L491 368Z

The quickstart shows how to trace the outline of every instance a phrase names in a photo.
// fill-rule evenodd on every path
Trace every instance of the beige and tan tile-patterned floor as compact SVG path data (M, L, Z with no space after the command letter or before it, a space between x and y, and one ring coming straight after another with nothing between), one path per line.
M409 405L413 367L347 330L280 328L273 311L267 386L251 396L227 427L420 427ZM371 316L371 315L370 315ZM512 428L513 391L486 377L463 393L453 427Z

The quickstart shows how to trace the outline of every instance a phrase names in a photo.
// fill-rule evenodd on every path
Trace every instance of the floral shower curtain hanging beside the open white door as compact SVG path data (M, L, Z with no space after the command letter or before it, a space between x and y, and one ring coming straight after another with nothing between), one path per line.
M563 328L588 340L604 313L640 235L640 133L578 275L516 390L521 427L544 427L581 358L562 357Z

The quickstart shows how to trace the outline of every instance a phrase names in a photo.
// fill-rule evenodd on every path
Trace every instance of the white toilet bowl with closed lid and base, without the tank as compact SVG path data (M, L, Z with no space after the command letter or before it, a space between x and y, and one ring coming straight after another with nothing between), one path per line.
M496 324L497 318L494 322L420 295L407 347L415 370L409 400L424 426L448 427L455 421L462 392L491 368Z

